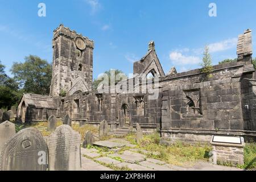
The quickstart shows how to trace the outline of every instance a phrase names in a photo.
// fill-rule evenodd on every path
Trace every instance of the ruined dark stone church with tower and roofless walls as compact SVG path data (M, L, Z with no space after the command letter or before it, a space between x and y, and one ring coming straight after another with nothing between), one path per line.
M251 30L239 35L237 61L214 65L210 77L201 69L177 73L171 68L166 75L150 42L146 55L133 65L134 76L150 73L159 78L158 98L150 100L148 93L92 90L94 42L61 24L53 31L50 95L24 93L18 117L22 122L37 122L52 114L59 118L69 114L72 122L98 125L105 120L112 131L120 132L139 123L143 131L158 129L163 142L209 142L216 134L255 138L251 42Z

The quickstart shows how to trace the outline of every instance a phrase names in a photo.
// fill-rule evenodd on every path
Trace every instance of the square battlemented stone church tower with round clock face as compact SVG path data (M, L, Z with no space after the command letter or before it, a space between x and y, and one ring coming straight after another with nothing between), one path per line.
M93 40L60 24L53 31L53 63L50 94L72 95L92 89Z

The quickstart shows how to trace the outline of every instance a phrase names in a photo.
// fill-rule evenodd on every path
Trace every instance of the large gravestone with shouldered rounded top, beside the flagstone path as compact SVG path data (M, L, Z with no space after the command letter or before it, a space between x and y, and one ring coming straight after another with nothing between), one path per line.
M49 171L81 169L81 137L71 126L61 125L47 138Z

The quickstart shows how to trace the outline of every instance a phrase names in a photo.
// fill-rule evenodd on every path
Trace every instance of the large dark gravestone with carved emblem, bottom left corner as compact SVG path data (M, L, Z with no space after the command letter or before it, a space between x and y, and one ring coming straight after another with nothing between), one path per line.
M46 171L47 145L39 130L20 130L2 147L0 171Z

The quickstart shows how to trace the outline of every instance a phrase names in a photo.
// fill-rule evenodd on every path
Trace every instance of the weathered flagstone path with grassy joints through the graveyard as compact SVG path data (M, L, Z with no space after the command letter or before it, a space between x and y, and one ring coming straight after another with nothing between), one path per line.
M125 148L118 148L120 143ZM83 171L242 171L243 169L217 166L207 162L197 162L192 167L180 167L167 164L161 160L148 158L146 155L151 151L138 151L134 144L124 139L101 141L100 146L108 146L109 151L98 150L97 148L81 148L82 170ZM122 150L122 152L118 152ZM139 152L143 152L140 154Z

